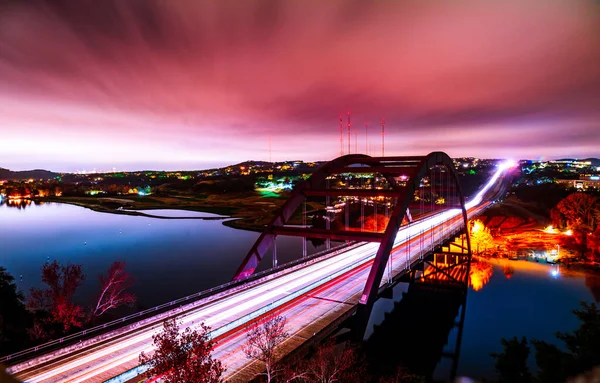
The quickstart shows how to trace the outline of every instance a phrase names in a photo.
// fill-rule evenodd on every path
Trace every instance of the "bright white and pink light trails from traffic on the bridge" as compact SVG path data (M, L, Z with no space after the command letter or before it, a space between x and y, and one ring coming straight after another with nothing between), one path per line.
M506 168L506 166L499 166L499 169L473 200L469 201L467 210L471 214L487 207L489 202L483 202L484 195L497 183ZM423 247L423 242L433 244L432 237L439 240L444 233L460 227L461 215L461 209L450 209L402 227L396 235L393 255L390 257L394 270L403 264L410 264L415 257L421 255L421 252L430 251L428 246ZM417 250L419 245L421 247ZM407 249L411 248L412 250L413 247L415 251L407 256ZM355 271L361 266L359 274L366 279L369 268L365 265L373 261L378 248L378 243L366 243L206 305L194 307L185 312L175 312L172 317L181 321L182 328L194 328L200 323L205 323L214 329L211 336L219 337L241 328L267 311L286 307L290 302L298 299L305 301L309 299L306 296L308 291L315 291L320 286L329 286L327 285L329 282L344 275L351 275L353 270ZM358 276L351 279L355 278L360 279ZM337 289L336 291L337 285L332 284L328 287L328 291L343 295L341 290ZM360 283L357 286L360 286ZM362 286L364 286L364 281ZM294 318L294 320L301 321L299 318ZM157 320L144 328L132 330L129 334L122 336L117 335L111 340L92 346L89 350L74 351L37 368L28 368L25 363L22 363L9 368L8 371L16 373L17 376L20 375L25 382L31 383L103 381L104 379L100 377L101 374L111 370L115 370L115 375L122 374L123 370L131 369L131 363L135 363L142 351L151 352L153 350L152 335L162 327L162 322L163 319ZM215 351L217 354L221 354L224 348L227 348L227 343L220 343ZM230 348L227 349L231 351ZM227 355L231 358L232 353L229 352ZM133 377L143 371L143 366L138 367L130 375ZM125 379L124 375L122 377ZM115 379L112 381L125 380Z

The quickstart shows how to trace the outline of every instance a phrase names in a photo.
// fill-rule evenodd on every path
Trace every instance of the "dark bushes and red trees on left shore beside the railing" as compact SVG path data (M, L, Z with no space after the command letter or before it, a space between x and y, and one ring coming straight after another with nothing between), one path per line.
M98 301L89 311L73 299L85 280L81 265L53 261L42 266L41 276L46 287L32 288L25 297L13 276L0 267L0 355L96 324L107 311L135 301L126 291L133 279L124 262L113 263L100 277Z

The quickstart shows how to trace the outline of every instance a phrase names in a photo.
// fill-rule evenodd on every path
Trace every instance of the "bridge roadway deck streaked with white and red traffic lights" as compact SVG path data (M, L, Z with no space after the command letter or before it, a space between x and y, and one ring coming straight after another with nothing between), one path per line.
M488 207L504 192L498 182L504 169L468 203L469 215ZM452 237L462 225L459 209L446 210L403 227L394 243L387 278L404 272L434 245ZM171 311L182 328L204 322L218 344L214 356L226 366L226 378L247 381L260 366L242 352L245 324L275 311L288 318L289 339L283 347L292 350L311 335L355 307L365 285L378 243L350 246L333 256L280 275L261 278L248 288L220 294ZM162 326L164 315L146 319L138 326L115 330L81 345L73 345L22 362L7 371L25 382L125 382L143 372L137 366L140 352L152 350L152 335Z

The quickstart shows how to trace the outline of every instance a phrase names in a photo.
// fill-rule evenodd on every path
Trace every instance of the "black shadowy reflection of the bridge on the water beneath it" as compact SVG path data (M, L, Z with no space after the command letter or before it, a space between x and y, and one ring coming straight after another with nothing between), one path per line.
M443 379L452 379L458 367L466 294L466 286L458 283L411 282L365 342L372 373L391 376L403 368L431 378L444 358L450 366Z

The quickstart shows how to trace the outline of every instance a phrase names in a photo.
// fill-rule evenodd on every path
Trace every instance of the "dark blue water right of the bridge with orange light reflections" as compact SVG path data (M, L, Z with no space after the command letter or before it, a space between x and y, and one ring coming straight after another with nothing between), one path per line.
M554 275L558 269L559 273ZM539 339L558 344L555 338L557 331L572 331L579 325L572 310L578 308L581 301L600 300L600 276L562 266L557 268L556 265L527 261L481 261L473 263L470 276L458 376L495 378L494 359L489 354L502 351L500 340L503 337L525 336L529 340ZM398 333L406 337L407 334L424 335L431 332L431 324L428 328L415 327L404 332L397 329L397 326L405 323L400 318L412 315L393 311L403 307L398 303L406 297L403 293L407 290L408 284L399 284L394 289L393 300L380 299L376 302L366 338L374 330L388 331L379 334L378 339L383 339L385 344L378 341L377 348L411 348L411 345L403 345L406 338L396 339ZM390 318L399 322L386 323ZM459 317L455 321L459 322ZM458 327L455 327L447 334L447 338L444 335L442 341L447 342L445 351L453 350L457 334ZM412 345L413 349L415 347ZM447 380L450 368L451 361L442 358L434 377ZM533 371L536 368L533 355L530 357L530 368Z

